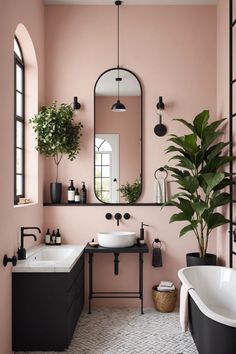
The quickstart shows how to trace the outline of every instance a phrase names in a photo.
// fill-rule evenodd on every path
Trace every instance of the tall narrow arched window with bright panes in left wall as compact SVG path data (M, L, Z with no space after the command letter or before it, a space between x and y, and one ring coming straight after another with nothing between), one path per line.
M14 202L25 195L25 67L14 38Z

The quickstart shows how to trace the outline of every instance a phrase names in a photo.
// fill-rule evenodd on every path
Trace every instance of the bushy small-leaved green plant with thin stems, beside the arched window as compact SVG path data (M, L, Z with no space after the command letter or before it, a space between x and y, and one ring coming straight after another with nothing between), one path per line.
M67 155L72 161L80 151L83 125L73 122L73 109L70 105L62 103L58 107L56 102L43 106L40 112L30 119L30 123L36 133L36 149L46 158L54 159L57 182L62 156Z

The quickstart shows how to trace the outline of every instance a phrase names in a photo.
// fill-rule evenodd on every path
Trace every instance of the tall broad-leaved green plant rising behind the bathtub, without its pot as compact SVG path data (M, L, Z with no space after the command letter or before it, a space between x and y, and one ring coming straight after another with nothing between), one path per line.
M223 167L234 157L223 154L229 142L219 142L223 132L218 128L225 119L209 123L209 111L205 110L194 118L193 124L184 119L175 120L184 124L191 134L172 134L169 141L174 145L166 149L167 153L175 153L170 160L177 160L177 165L165 169L171 172L181 190L167 202L180 210L171 216L170 222L187 222L179 236L194 232L199 255L204 257L212 230L229 222L216 209L231 201L225 188L233 182Z

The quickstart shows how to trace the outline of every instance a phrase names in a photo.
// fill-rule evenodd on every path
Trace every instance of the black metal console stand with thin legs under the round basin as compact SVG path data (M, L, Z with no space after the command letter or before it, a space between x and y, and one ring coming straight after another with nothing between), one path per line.
M146 244L134 245L127 248L105 248L105 247L91 247L89 244L85 247L85 253L89 256L89 311L91 314L92 299L104 298L134 298L141 301L141 314L143 314L143 253L148 253ZM114 274L119 274L119 254L120 253L137 253L139 255L139 291L93 291L93 256L94 253L113 253L114 254Z

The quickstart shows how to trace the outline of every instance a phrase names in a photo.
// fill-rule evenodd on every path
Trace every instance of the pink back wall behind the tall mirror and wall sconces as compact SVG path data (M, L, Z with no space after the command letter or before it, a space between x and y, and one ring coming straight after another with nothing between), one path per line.
M192 119L206 108L212 117L216 116L216 6L122 6L120 21L120 64L136 73L143 86L144 187L140 201L151 202L153 173L168 161L164 154L168 137L158 138L153 133L158 121L158 97L162 95L166 104L163 119L168 133L185 131L172 121L174 117ZM82 109L76 119L85 127L81 153L73 162L62 161L60 179L65 186L71 178L76 184L86 181L89 201L94 202L93 89L98 76L116 65L116 9L48 6L46 34L46 101L69 103L78 95ZM50 160L45 165L48 197L48 184L54 179L55 168ZM152 286L161 279L173 280L179 286L177 271L185 265L186 252L196 251L196 241L190 235L179 239L178 231L183 225L169 224L172 207L45 207L45 229L60 227L65 242L86 243L98 231L117 230L114 220L105 219L106 212L131 214L131 220L122 221L119 229L138 233L141 221L149 224L149 245L155 237L163 240L163 268L152 268L151 253L145 256L144 305L152 306ZM209 251L215 250L216 239L212 236ZM114 277L112 257L96 256L97 289L120 289L125 284L133 288L137 284L134 258L122 255L120 275ZM104 303L124 306L131 302Z

